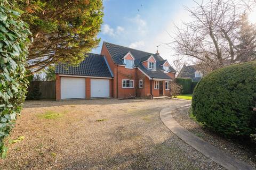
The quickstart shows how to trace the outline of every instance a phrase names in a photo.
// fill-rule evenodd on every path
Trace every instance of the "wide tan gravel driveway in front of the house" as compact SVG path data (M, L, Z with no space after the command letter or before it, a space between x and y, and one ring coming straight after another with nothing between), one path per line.
M173 99L26 101L9 138L25 139L11 142L0 169L223 169L160 120L163 107L185 104Z

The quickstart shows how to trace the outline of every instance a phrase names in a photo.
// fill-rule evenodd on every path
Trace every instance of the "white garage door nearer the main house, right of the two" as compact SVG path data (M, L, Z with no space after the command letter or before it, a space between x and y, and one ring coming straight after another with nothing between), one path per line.
M91 79L91 97L109 97L109 80Z

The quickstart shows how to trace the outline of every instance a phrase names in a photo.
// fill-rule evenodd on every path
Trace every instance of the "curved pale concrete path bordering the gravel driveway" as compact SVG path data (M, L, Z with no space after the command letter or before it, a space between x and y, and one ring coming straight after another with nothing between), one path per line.
M186 107L189 105L185 105L182 107ZM196 135L189 132L187 129L183 128L183 126L181 126L178 122L176 122L172 117L172 111L173 110L170 107L162 109L162 111L160 112L161 120L167 126L167 128L169 128L174 134L176 134L180 139L185 141L188 145L195 148L197 151L201 152L206 157L212 159L215 163L227 169L230 169L230 170L254 169L251 165L233 156L226 154L220 149L205 142L201 138L198 138Z

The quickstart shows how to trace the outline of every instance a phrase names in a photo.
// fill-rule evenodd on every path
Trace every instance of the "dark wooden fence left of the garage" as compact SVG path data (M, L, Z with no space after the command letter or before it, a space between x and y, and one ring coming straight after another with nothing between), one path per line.
M35 86L39 86L41 92L40 99L55 99L55 81L31 81L27 89L28 93L32 92Z

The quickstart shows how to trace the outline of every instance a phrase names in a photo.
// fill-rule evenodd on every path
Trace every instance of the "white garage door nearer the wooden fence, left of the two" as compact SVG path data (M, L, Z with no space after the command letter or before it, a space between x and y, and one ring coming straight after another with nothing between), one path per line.
M60 91L61 99L85 98L85 79L61 77Z

